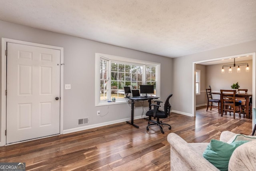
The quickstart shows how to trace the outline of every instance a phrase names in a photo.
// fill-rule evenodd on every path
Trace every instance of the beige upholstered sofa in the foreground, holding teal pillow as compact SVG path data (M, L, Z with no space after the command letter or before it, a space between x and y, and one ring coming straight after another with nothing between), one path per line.
M223 131L220 141L228 142L236 135ZM167 137L171 146L171 171L219 171L202 154L209 143L187 143L175 133ZM235 149L228 164L229 171L256 170L256 140L245 143Z

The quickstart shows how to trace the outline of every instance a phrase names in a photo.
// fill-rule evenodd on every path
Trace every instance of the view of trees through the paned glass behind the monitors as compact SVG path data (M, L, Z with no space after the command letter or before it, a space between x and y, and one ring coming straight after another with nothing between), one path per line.
M140 89L140 85L144 84L154 85L154 95L156 95L156 66L129 64L109 61L103 58L100 59L101 101L111 100L112 97L123 99L125 96L125 86L132 86L132 89Z

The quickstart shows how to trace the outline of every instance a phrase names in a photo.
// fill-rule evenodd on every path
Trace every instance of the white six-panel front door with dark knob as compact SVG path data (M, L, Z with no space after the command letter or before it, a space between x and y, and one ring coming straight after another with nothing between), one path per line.
M60 133L60 50L7 43L6 144Z

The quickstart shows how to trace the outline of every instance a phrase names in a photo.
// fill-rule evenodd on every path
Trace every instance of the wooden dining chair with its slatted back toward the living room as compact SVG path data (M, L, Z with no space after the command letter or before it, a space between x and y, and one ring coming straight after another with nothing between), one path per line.
M223 112L227 114L228 111L233 112L234 119L235 113L239 113L241 117L241 102L236 101L236 90L220 90L220 100L221 100L221 116Z

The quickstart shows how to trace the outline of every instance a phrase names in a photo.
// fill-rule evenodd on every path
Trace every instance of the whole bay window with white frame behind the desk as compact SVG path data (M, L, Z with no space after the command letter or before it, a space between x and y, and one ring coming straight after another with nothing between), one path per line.
M154 85L159 96L160 64L96 53L95 105L126 103L124 87L140 89L140 85Z

